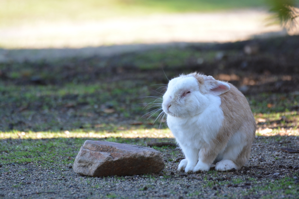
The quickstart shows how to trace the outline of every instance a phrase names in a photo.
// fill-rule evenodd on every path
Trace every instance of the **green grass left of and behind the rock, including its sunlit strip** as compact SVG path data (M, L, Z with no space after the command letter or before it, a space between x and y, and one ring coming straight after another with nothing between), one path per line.
M152 131L156 130L153 129ZM128 135L130 132L123 131L122 133ZM150 137L150 133L139 130L137 135ZM160 138L159 141L171 141L171 138L165 138L169 134L169 131L162 133L164 139ZM23 164L32 162L38 166L73 163L80 147L86 140L102 140L141 146L146 146L147 142L143 138L122 138L119 133L110 135L110 137L104 137L109 136L104 133L95 133L93 137L90 137L90 135L90 133L84 132L72 132L68 135L58 132L31 132L26 133L26 135L20 135L16 132L0 132L1 163ZM162 147L156 149L161 152L167 151ZM174 158L174 156L171 158ZM26 169L21 172L26 172ZM119 180L123 180L123 178L119 178Z

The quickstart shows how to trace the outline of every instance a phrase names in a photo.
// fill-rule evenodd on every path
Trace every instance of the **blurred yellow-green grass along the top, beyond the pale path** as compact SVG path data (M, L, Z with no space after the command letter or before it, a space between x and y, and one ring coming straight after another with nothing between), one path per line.
M121 15L182 13L265 6L245 0L1 0L0 27L40 21L96 20Z

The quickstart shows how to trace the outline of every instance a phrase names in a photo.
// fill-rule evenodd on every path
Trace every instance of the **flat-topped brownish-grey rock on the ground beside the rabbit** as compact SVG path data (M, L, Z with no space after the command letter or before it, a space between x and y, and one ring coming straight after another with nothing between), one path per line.
M115 142L86 140L74 161L74 172L94 177L158 173L164 160L155 149Z

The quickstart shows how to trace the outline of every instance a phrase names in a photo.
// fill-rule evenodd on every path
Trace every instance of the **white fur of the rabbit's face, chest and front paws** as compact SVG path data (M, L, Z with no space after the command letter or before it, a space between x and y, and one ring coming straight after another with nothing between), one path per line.
M184 90L190 90L191 93L181 98L180 92ZM199 154L202 146L209 144L219 132L224 118L220 104L219 96L204 95L199 91L194 77L179 77L169 82L162 108L167 113L168 127L186 156L178 170L196 172L210 169L210 165L203 163Z

